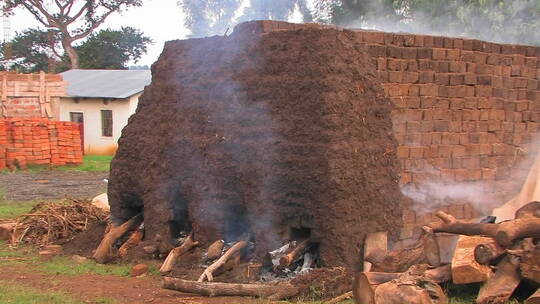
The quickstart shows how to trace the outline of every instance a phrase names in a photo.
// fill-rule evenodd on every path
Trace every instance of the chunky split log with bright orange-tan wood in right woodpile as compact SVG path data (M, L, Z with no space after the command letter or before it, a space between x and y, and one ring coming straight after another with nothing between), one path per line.
M460 236L454 257L452 258L452 281L454 284L485 282L492 274L491 268L479 264L474 257L474 250L479 244L492 239L482 236Z

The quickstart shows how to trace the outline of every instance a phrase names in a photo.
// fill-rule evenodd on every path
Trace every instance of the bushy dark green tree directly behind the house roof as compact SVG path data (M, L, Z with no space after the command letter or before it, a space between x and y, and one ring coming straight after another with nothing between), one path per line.
M121 30L102 30L92 34L76 47L83 69L127 69L128 61L137 62L152 43L139 30L122 27Z

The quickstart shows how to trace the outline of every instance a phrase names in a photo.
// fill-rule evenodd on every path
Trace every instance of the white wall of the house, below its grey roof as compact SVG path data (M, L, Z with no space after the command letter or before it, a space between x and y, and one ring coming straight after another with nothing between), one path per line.
M127 125L128 118L135 113L139 94L126 99L62 98L60 120L70 121L70 113L82 113L84 117L84 152L86 154L112 155L118 148L118 138ZM112 136L103 136L101 110L112 111Z

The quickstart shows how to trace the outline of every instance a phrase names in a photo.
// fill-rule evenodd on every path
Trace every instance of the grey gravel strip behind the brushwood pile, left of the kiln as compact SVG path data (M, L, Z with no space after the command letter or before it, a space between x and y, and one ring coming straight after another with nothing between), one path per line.
M3 199L11 201L93 198L107 190L108 172L15 172L0 174Z

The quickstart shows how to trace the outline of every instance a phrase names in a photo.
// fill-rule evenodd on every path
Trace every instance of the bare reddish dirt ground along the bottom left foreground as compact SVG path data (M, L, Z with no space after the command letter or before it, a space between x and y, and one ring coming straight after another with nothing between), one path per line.
M96 303L96 298L110 298L130 304L265 303L250 298L204 298L166 290L160 287L159 277L125 278L89 274L74 279L73 276L67 275L42 274L22 265L0 267L0 281L42 291L65 292L87 303Z

